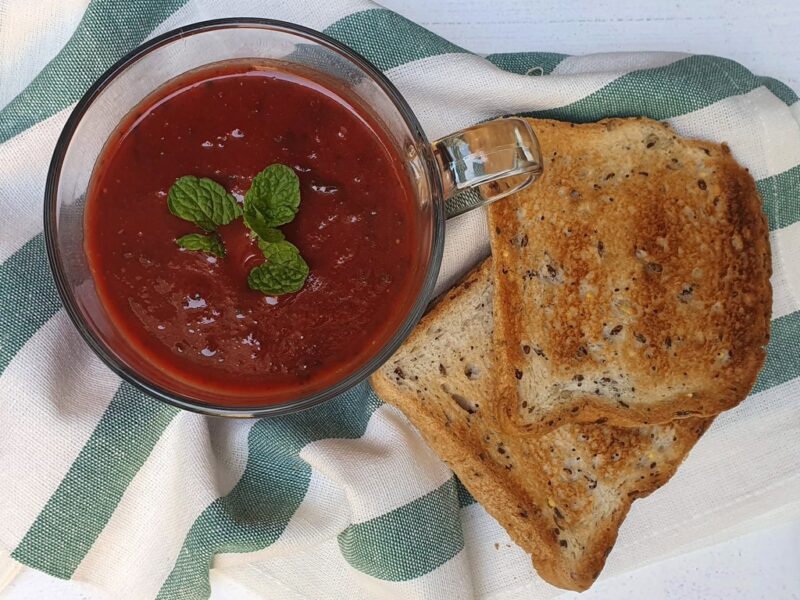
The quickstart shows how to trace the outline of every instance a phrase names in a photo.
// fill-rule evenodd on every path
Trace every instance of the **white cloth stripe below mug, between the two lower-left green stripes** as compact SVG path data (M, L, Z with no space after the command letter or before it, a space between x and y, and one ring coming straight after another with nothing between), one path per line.
M154 598L197 517L239 481L247 464L242 449L255 423L178 413L73 578L114 598Z

